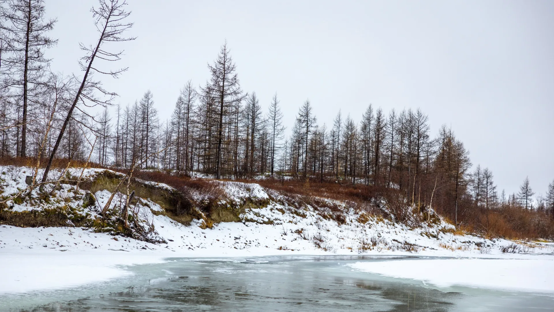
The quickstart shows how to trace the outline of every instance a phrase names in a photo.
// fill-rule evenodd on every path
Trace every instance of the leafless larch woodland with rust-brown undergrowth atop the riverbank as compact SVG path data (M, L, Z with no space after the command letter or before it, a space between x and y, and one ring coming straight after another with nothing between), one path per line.
M49 37L56 21L44 18L45 4L0 4L3 163L257 179L283 192L388 207L399 222L434 210L491 236L554 238L554 182L544 196L535 196L529 179L519 193L505 194L491 170L471 163L453 129L430 133L428 115L418 108L383 112L367 103L360 119L338 111L326 125L317 122L317 103L299 99L294 127L285 129L279 94L262 99L247 92L227 43L214 51L206 83L183 82L170 120L158 118L150 90L133 104L115 105L117 94L102 79L125 72L117 61L121 42L134 39L126 36L130 6L100 1L91 20L98 37L83 42L83 58L74 60L82 71L62 76L44 57L57 42Z

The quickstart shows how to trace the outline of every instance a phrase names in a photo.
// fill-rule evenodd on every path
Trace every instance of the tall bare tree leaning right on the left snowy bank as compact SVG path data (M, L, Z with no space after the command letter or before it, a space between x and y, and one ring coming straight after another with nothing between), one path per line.
M114 62L121 59L123 51L120 52L109 52L104 49L106 43L110 42L121 42L121 41L130 41L134 40L133 37L124 37L122 34L129 28L133 26L133 23L125 22L125 19L129 17L131 12L125 11L125 6L127 5L125 0L100 0L100 6L98 8L91 9L93 12L93 17L95 19L96 28L100 33L100 37L96 46L86 47L81 44L81 49L88 52L89 54L81 59L80 66L83 69L84 76L81 82L81 85L75 94L75 99L73 104L68 110L67 116L64 120L63 125L61 126L58 139L54 144L52 153L50 154L50 159L48 160L48 165L44 170L44 175L42 177L42 182L46 182L48 178L48 172L50 166L52 165L52 160L58 150L61 139L64 136L65 129L71 119L71 114L79 102L90 102L92 105L108 105L111 103L111 100L117 95L116 93L107 92L102 88L101 83L97 80L93 80L93 73L97 72L100 74L107 74L111 77L117 77L122 72L125 72L127 68L117 69L116 71L103 71L96 67L93 67L93 62L95 59L101 59L104 61ZM108 99L96 97L96 93L100 92L102 95L107 96Z

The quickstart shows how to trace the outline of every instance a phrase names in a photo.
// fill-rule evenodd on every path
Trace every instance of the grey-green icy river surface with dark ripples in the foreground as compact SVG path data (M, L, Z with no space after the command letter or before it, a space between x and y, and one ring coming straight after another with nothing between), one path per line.
M169 258L132 274L52 291L0 295L2 311L550 311L554 296L451 286L353 270L417 258L266 256ZM553 281L554 283L554 281Z

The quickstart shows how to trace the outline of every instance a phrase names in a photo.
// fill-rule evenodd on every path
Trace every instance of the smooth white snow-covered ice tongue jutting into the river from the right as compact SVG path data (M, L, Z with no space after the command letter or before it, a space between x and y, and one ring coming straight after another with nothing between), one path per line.
M554 293L554 259L414 259L348 264L354 270L423 281L442 288L470 286Z

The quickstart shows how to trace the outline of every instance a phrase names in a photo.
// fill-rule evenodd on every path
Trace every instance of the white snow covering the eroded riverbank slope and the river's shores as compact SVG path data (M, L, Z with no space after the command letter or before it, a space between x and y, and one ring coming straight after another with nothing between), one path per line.
M71 175L79 176L79 168L71 169ZM3 194L9 195L24 189L25 176L32 170L24 167L0 167ZM93 179L101 172L98 169L85 170L85 179ZM60 174L57 172L53 173ZM40 174L39 174L40 176ZM57 178L57 177L55 177ZM143 182L145 184L172 190L165 184ZM409 228L404 224L365 215L348 208L345 203L320 199L321 207L306 204L294 204L295 201L285 198L272 190L258 184L239 182L217 182L218 187L227 194L227 203L242 205L245 202L264 202L263 207L247 207L240 214L242 222L225 222L206 228L205 220L193 220L190 225L166 217L160 212L160 205L150 199L141 199L137 204L137 218L141 227L151 229L149 238L156 238L165 243L147 243L121 235L96 233L91 228L80 227L39 227L20 228L0 225L0 293L17 293L35 289L64 288L78 284L91 283L127 274L121 265L152 263L163 261L167 257L245 257L263 255L290 254L379 254L379 255L423 255L449 256L458 258L503 258L502 260L420 260L422 270L409 270L409 261L389 261L371 268L363 263L354 266L357 270L370 271L384 275L419 279L428 283L441 284L452 280L452 284L466 285L466 276L441 271L439 268L458 265L464 272L473 272L474 266L481 266L480 261L495 268L515 270L517 265L529 261L529 266L553 267L551 259L554 245L550 243L514 243L504 239L484 239L474 235L454 235L452 225L445 222L426 224L422 227ZM76 193L73 185L61 184L55 191L55 200L48 205L37 205L32 200L23 203L8 203L8 209L22 212L37 210L43 207L55 207L63 203L88 218L100 218L99 210L104 207L111 193L102 190L95 193L97 203L83 207L84 192ZM36 192L36 190L35 190ZM33 193L33 196L38 196ZM193 194L202 200L203 194ZM117 205L125 202L125 195L117 193L110 209L119 209ZM329 205L327 205L327 204ZM337 223L330 216L334 213L330 206L342 211L343 222ZM70 224L68 224L70 225ZM113 234L113 233L112 233ZM513 251L514 253L504 253ZM521 260L504 260L521 259ZM427 262L425 262L427 261ZM437 262L439 261L439 262ZM467 262L464 262L467 261ZM391 264L387 264L391 263ZM435 264L433 264L435 263ZM505 265L504 265L505 264ZM395 272L398 265L398 273ZM427 266L426 266L427 265ZM504 266L503 266L504 265ZM438 268L434 268L437 266ZM404 268L404 269L402 269ZM433 268L434 270L430 270ZM473 269L472 269L473 268ZM447 269L444 269L447 270ZM477 270L480 272L483 270ZM494 283L480 281L497 277L502 279L502 270L485 270L489 279L472 279L476 286L491 286ZM529 270L520 270L533 274ZM85 274L77 274L86 272ZM552 272L552 270L550 270ZM412 275L411 275L412 274ZM449 275L450 274L450 275ZM477 274L477 273L475 273ZM440 279L447 276L447 279ZM448 277L450 276L450 277ZM459 278L458 278L458 277ZM529 275L518 275L524 279ZM539 281L526 279L519 288L554 291L554 279ZM511 283L511 284L510 284ZM550 283L550 284L549 284ZM506 285L517 286L517 280L506 280Z

